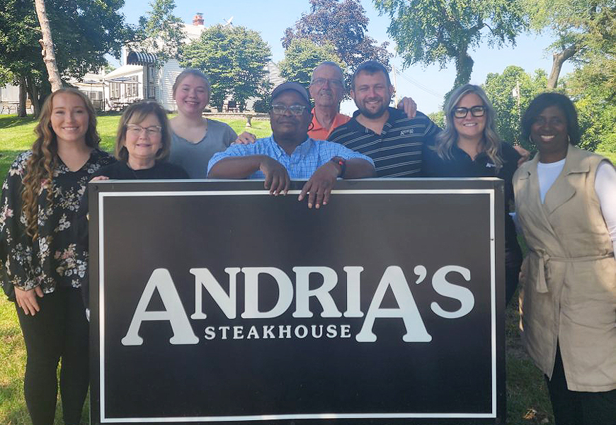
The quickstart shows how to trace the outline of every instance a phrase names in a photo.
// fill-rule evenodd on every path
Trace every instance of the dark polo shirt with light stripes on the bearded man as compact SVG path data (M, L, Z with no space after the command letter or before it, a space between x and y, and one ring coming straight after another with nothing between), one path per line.
M380 135L353 118L336 128L328 140L372 158L378 177L418 177L421 174L422 145L432 145L440 131L430 118L418 112L408 118L404 111L389 108L389 118Z

